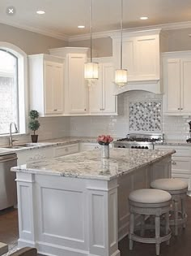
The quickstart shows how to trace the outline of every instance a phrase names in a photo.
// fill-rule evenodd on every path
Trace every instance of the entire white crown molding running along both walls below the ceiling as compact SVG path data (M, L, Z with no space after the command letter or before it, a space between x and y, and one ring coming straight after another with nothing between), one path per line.
M34 28L32 26L27 26L19 23L13 22L6 22L0 19L0 23L10 25L15 28L21 28L33 33L39 33L48 37L57 38L63 41L83 41L90 39L90 33L76 35L76 36L69 36L62 33L56 33L55 31L48 29L48 28ZM170 24L159 24L153 26L146 26L146 27L137 27L137 28L126 28L123 29L123 33L134 33L138 31L144 31L149 29L162 29L163 31L167 30L174 30L174 29L181 29L181 28L191 28L191 21L180 22L180 23L170 23ZM103 37L115 37L117 34L120 33L120 30L111 30L111 31L104 31L98 33L92 33L92 37L96 38L103 38Z

